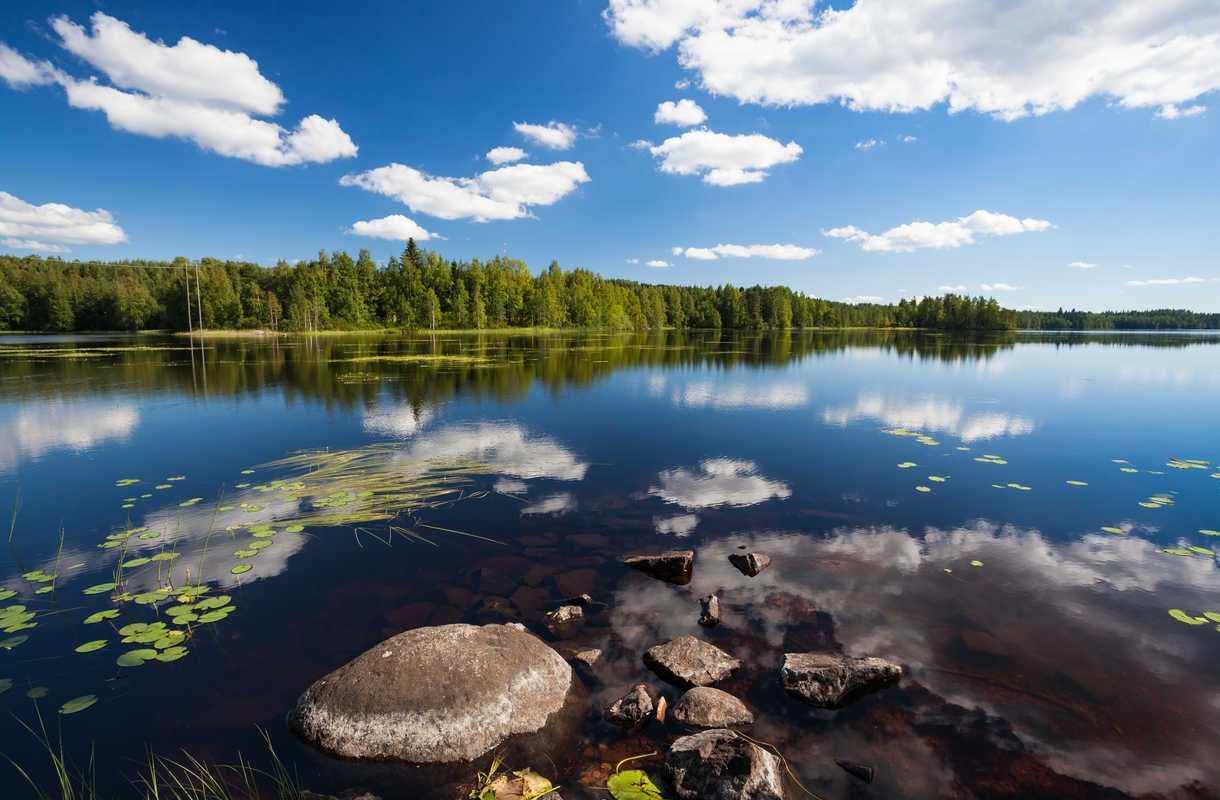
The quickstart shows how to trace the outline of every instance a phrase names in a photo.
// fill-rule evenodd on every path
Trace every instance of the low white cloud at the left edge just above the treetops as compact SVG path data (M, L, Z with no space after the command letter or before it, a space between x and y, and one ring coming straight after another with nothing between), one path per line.
M71 244L118 244L127 234L105 209L83 211L61 202L40 206L0 191L0 238L18 250L63 252Z

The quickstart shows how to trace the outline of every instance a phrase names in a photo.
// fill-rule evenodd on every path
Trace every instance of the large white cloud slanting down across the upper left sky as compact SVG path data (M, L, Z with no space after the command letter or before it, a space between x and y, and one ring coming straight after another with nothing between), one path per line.
M279 112L283 93L243 52L183 37L152 41L100 11L92 30L67 17L51 20L60 45L98 70L78 79L35 65L0 45L0 78L13 88L55 83L74 109L101 111L111 127L152 138L193 141L204 150L271 167L321 163L356 155L334 120L304 117L295 128L259 117ZM257 116L255 116L257 115Z

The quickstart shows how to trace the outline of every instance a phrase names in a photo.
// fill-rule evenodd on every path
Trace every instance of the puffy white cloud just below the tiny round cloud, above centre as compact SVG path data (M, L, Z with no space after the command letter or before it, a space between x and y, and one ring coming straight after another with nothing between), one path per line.
M760 183L767 170L795 161L803 152L795 141L782 144L760 133L730 135L706 128L671 137L648 151L660 160L661 172L702 176L704 183L716 187Z

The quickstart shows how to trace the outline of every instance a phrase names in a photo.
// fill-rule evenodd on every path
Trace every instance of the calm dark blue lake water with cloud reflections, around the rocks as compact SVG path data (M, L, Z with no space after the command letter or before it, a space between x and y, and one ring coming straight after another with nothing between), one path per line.
M681 634L745 662L723 688L826 799L1218 796L1218 345L826 332L192 352L0 338L5 528L15 512L0 751L41 770L17 721L37 707L76 759L94 748L120 796L148 748L257 762L261 727L311 789L455 798L476 767L340 762L284 715L388 635L514 618L561 652L605 654L569 732L516 756L570 799L608 796L593 789L608 765L677 735L621 732L595 709L637 679L662 688L640 654ZM364 520L403 511L395 491L428 496ZM773 566L739 574L727 556L742 545ZM619 563L673 546L697 552L688 587ZM233 610L122 644L132 623L176 628L177 600L149 594L167 580ZM608 607L549 633L545 612L583 591ZM709 632L698 598L712 591L723 622ZM117 666L133 649L171 659ZM905 677L814 710L776 682L783 652L814 649L884 656ZM0 795L21 785L0 766Z

